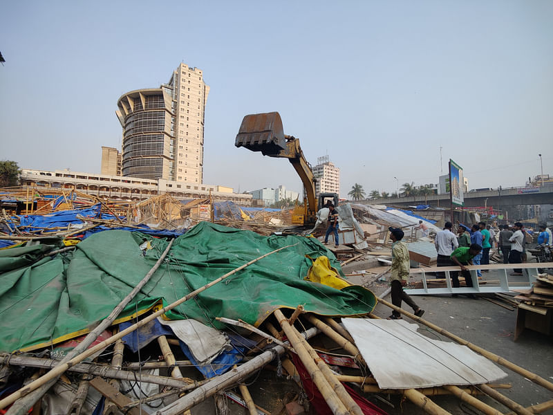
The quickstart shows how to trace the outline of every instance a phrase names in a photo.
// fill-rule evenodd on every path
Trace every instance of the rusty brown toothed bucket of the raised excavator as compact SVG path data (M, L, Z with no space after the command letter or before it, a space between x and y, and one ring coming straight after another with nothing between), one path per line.
M275 156L286 149L281 116L277 112L250 114L242 120L236 140L236 147L261 151L263 156Z

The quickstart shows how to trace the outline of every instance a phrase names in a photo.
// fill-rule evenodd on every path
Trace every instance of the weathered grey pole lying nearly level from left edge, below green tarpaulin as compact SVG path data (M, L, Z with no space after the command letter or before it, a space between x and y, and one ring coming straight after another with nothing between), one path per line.
M32 358L30 356L15 356L15 355L0 355L3 359L3 363L12 366L28 366L28 367L40 367L43 369L53 369L59 364L59 360L44 359L44 358ZM106 365L94 365L91 363L79 363L75 366L67 369L68 371L74 371L79 374L91 374L93 376L100 376L101 378L111 378L119 380L129 380L129 382L135 382L138 378L134 371L112 369ZM195 382L188 385L184 380L167 378L166 376L155 376L142 374L142 382L153 383L154 385L176 387L183 390L194 389L194 387L203 385L205 381Z

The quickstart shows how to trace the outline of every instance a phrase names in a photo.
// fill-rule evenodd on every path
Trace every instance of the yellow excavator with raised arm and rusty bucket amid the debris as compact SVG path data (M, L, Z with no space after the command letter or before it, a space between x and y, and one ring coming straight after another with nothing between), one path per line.
M284 134L282 119L278 112L245 116L234 145L251 151L261 151L263 156L288 158L292 163L305 190L303 206L297 205L292 213L294 225L313 225L317 221L317 211L324 207L324 203L331 201L335 206L338 205L336 193L321 193L317 200L315 196L317 178L313 175L311 165L303 156L299 139Z

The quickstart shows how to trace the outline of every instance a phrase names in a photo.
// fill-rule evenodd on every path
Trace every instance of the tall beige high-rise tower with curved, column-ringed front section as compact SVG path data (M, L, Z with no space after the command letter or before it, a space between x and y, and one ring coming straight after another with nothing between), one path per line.
M167 84L122 95L123 176L202 183L208 93L203 72L180 64Z

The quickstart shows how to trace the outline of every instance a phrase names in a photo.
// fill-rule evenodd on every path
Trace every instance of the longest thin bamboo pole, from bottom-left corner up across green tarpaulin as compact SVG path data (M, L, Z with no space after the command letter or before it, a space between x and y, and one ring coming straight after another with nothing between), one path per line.
M25 396L26 394L29 394L30 392L34 391L38 387L41 387L42 385L44 385L44 383L46 383L46 382L48 382L52 379L57 378L57 376L64 373L64 371L66 371L69 367L75 365L76 363L82 362L84 359L88 358L88 356L92 356L97 351L100 351L100 350L104 349L106 346L109 346L109 344L115 343L115 341L117 341L118 339L124 337L125 335L127 335L129 333L132 333L133 331L135 331L139 327L144 326L144 324L148 324L153 319L159 317L160 315L163 315L163 314L167 313L167 311L172 310L176 306L180 306L180 304L182 304L183 302L188 301L189 299L191 299L193 297L196 297L196 295L198 295L202 291L207 290L207 288L214 286L218 282L223 281L223 279L225 279L227 277L230 277L231 275L234 275L235 273L237 273L240 270L243 270L247 266L250 266L251 264L254 264L254 262L259 261L260 259L263 259L265 257L268 257L269 255L272 255L275 252L279 252L280 250L283 250L285 248L290 248L290 247L296 246L296 245L297 245L297 243L294 243L293 245L283 246L282 248L279 248L279 249L273 250L271 252L268 252L265 255L261 255L261 257L257 257L256 259L252 259L252 261L249 261L246 264L243 264L243 265L239 266L238 268L230 271L229 273L226 273L222 277L218 277L217 279L214 279L209 284L206 284L205 286L200 287L197 290L192 291L191 293L189 293L185 297L182 297L181 299L178 299L176 302L173 302L173 303L169 304L168 306L165 306L165 307L161 308L160 310L156 311L156 313L152 313L151 315L148 315L147 317L144 317L144 319L140 320L140 322L138 322L136 324L133 324L132 326L120 331L116 335L111 336L111 338L106 339L103 342L100 342L96 346L91 347L90 349L87 349L86 351L83 351L82 353L80 353L78 356L75 356L71 360L68 360L67 362L63 362L63 361L60 362L59 366L55 367L54 369L49 371L44 376L41 376L40 378L38 378L34 382L30 382L25 387L19 389L18 391L15 391L10 396L7 396L6 398L3 398L2 400L0 400L0 409L3 409L7 405L10 405L10 403L14 403L15 400L21 398L21 396ZM81 344L83 344L83 343L84 343L84 341ZM23 414L21 414L21 415L23 415Z

